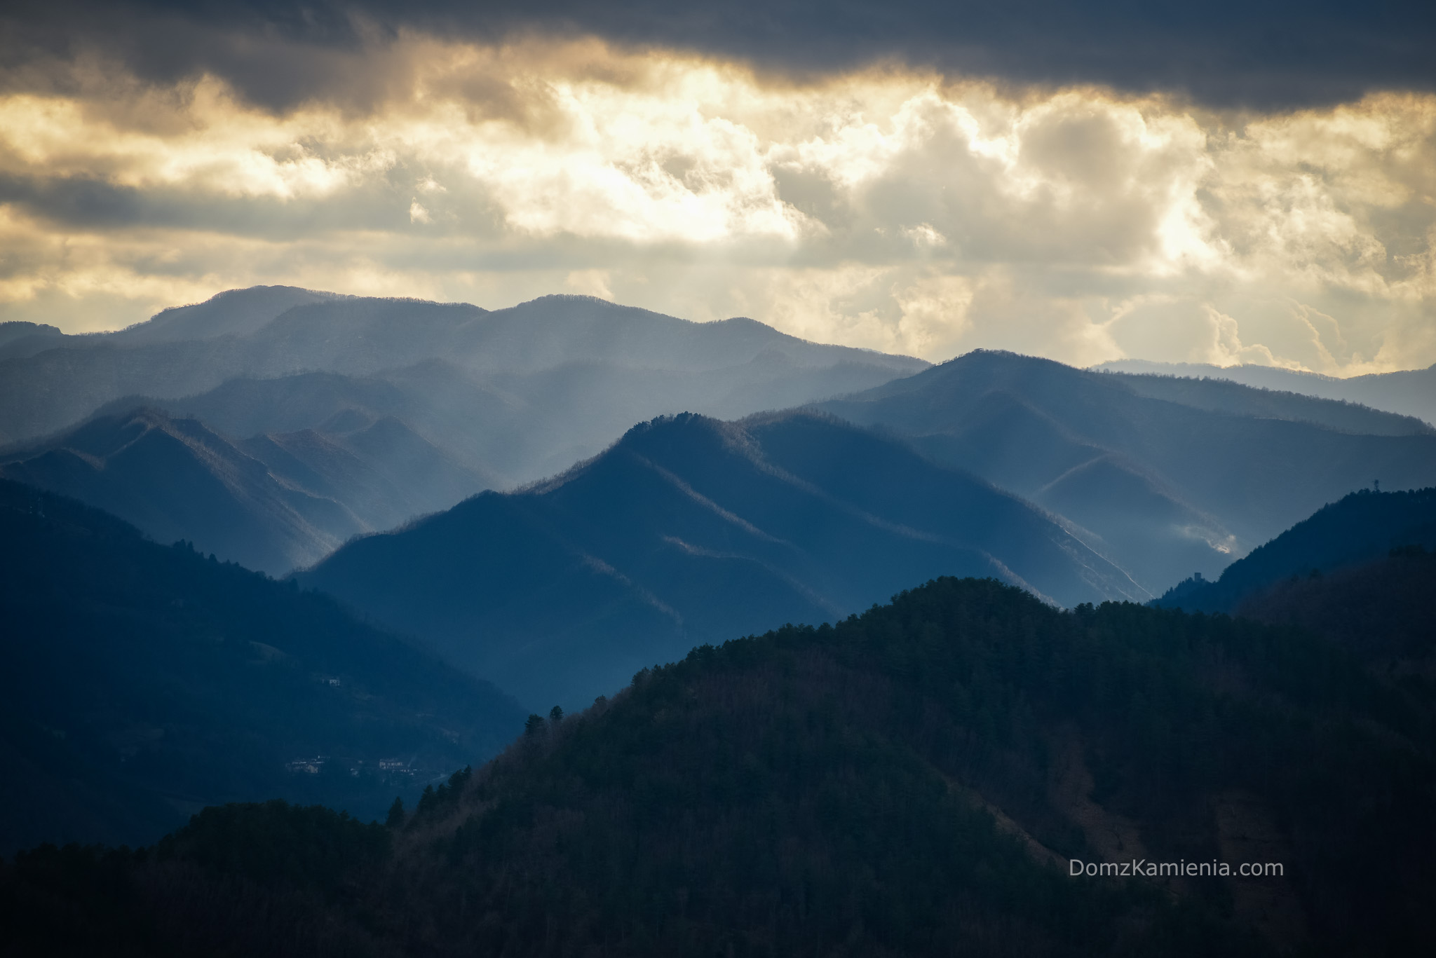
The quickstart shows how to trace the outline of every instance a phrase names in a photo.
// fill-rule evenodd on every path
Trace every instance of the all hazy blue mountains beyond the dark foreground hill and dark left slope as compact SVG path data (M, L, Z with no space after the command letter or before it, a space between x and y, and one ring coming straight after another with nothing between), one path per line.
M0 475L271 575L319 563L304 582L543 708L941 575L1147 600L1373 480L1436 484L1436 428L1348 402L982 350L925 368L586 297L257 287L63 342L4 361L0 392L105 405ZM116 398L141 381L159 395ZM731 421L814 398L880 435Z

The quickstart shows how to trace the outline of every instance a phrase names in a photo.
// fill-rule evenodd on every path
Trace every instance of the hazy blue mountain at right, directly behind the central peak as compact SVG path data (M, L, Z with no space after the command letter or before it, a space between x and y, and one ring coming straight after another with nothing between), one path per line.
M1409 418L1225 382L1146 386L974 352L819 408L1051 508L1153 592L1215 576L1373 480L1436 483L1436 435Z

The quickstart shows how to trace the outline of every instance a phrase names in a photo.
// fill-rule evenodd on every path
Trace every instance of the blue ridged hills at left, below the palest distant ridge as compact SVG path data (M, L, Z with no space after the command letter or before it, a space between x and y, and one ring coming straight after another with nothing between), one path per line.
M396 419L350 412L326 425L236 441L141 408L0 454L0 475L276 576L487 484Z

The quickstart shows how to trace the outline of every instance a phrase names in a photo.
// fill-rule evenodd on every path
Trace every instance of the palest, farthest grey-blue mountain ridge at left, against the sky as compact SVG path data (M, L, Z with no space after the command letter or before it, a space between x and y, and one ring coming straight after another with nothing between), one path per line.
M717 404L705 406L712 412L741 415L849 392L926 366L903 356L808 343L751 319L689 323L580 296L546 296L487 312L461 303L254 287L168 310L121 333L65 338L60 348L0 361L0 442L60 429L123 396L194 396L240 376L314 371L370 376L432 359L471 373L531 373L572 363L715 373L695 383L696 392L685 391L688 383L681 378L671 376L682 386L678 392L665 392L656 388L665 385L662 378L645 383L640 376L632 385L642 389L646 408L623 419L625 425L681 412L692 399ZM725 369L737 372L725 375ZM801 376L794 381L794 371L816 376L813 391L803 388ZM561 375L556 385L566 386ZM602 392L582 398L612 405ZM729 406L721 405L725 399ZM587 441L596 442L596 450L615 435Z

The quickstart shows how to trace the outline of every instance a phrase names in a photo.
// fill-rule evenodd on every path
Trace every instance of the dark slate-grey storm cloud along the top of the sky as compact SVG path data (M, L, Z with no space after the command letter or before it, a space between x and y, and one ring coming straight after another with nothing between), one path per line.
M896 59L1017 83L1178 90L1216 106L1436 88L1436 4L1410 0L20 0L0 17L11 88L46 82L47 57L89 52L151 80L210 72L273 109L382 98L383 70L356 55L404 29L475 40L596 33L798 73Z

